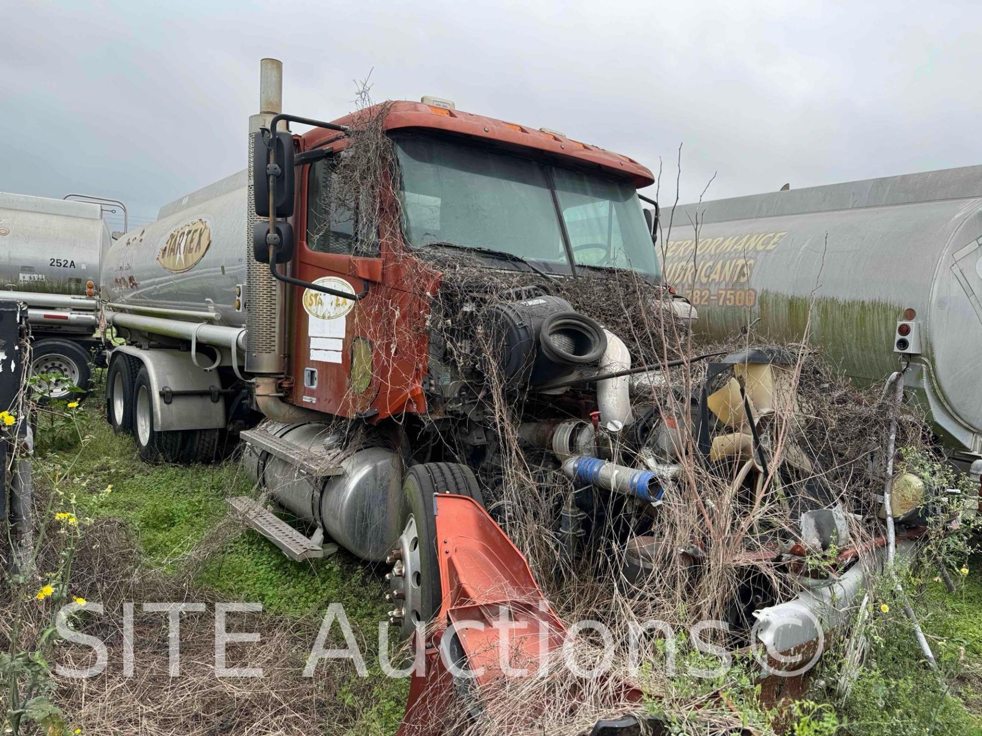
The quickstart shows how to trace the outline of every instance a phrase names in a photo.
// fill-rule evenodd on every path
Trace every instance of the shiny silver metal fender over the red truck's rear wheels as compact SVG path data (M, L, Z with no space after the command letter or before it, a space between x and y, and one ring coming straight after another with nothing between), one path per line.
M225 401L221 394L217 394L218 401L212 400L213 390L221 390L222 380L217 371L205 371L194 365L190 352L120 345L110 355L110 362L116 353L132 355L146 368L154 430L226 428Z

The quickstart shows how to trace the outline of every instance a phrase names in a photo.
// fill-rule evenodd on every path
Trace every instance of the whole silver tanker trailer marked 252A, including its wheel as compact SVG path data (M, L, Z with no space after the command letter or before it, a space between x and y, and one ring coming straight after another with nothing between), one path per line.
M0 300L27 303L31 373L88 388L97 356L96 286L112 241L98 202L0 192ZM69 392L52 381L54 397Z

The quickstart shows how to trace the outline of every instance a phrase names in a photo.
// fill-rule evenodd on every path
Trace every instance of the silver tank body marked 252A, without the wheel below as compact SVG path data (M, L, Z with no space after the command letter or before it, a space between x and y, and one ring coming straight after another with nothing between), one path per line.
M0 289L84 296L110 242L98 204L0 192Z

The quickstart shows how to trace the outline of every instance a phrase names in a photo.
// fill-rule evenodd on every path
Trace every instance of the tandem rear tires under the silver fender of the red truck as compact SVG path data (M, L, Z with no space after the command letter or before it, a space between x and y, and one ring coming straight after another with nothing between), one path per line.
M109 364L106 419L117 435L134 436L139 457L145 462L210 462L218 455L218 429L156 429L150 375L133 355L119 353Z

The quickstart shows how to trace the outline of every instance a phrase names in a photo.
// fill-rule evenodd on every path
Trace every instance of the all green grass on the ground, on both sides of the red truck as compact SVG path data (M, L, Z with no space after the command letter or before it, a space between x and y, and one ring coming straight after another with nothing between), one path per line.
M143 552L143 564L176 574L182 555L206 540L225 518L225 499L250 493L252 484L234 462L191 467L142 463L133 440L114 436L99 407L93 396L80 409L81 434L90 438L82 453L67 447L38 458L38 469L67 472L62 488L76 495L80 516L123 520ZM71 443L52 447L65 445ZM112 493L97 500L98 492L110 484ZM968 576L956 575L955 594L932 582L919 606L950 685L939 684L924 665L900 606L892 605L889 615L882 617L874 608L880 639L846 707L838 709L838 733L982 736L977 715L982 712L982 560L975 558L969 566ZM374 658L375 627L388 607L380 570L346 552L326 560L293 562L254 532L242 530L205 558L194 583L229 600L259 602L268 613L314 627L327 605L344 604L365 645L371 674L364 680L352 674L339 684L339 700L356 716L347 725L325 723L325 732L335 733L339 727L349 736L395 732L409 681L384 677ZM825 676L825 690L810 692L808 698L832 702L835 680Z

